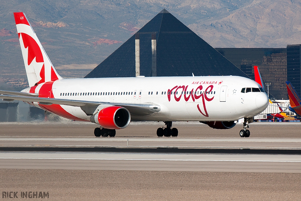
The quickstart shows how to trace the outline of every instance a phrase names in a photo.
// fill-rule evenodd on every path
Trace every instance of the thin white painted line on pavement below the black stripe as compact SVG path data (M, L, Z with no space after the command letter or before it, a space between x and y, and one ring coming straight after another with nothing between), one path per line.
M107 160L107 161L201 161L201 162L292 162L301 161L260 161L260 160L194 160L194 159L76 159L76 158L0 158L0 159L52 159L52 160Z

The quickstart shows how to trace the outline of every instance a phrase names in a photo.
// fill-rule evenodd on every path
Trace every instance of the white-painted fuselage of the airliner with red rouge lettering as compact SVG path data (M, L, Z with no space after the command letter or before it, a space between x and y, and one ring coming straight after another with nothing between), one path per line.
M43 84L36 86L35 93L41 94ZM132 116L132 120L236 121L253 117L268 105L266 93L242 93L246 87L260 85L238 76L78 78L56 80L48 92L49 97L53 93L56 99L160 105L159 112ZM90 121L80 107L61 107L83 121Z

